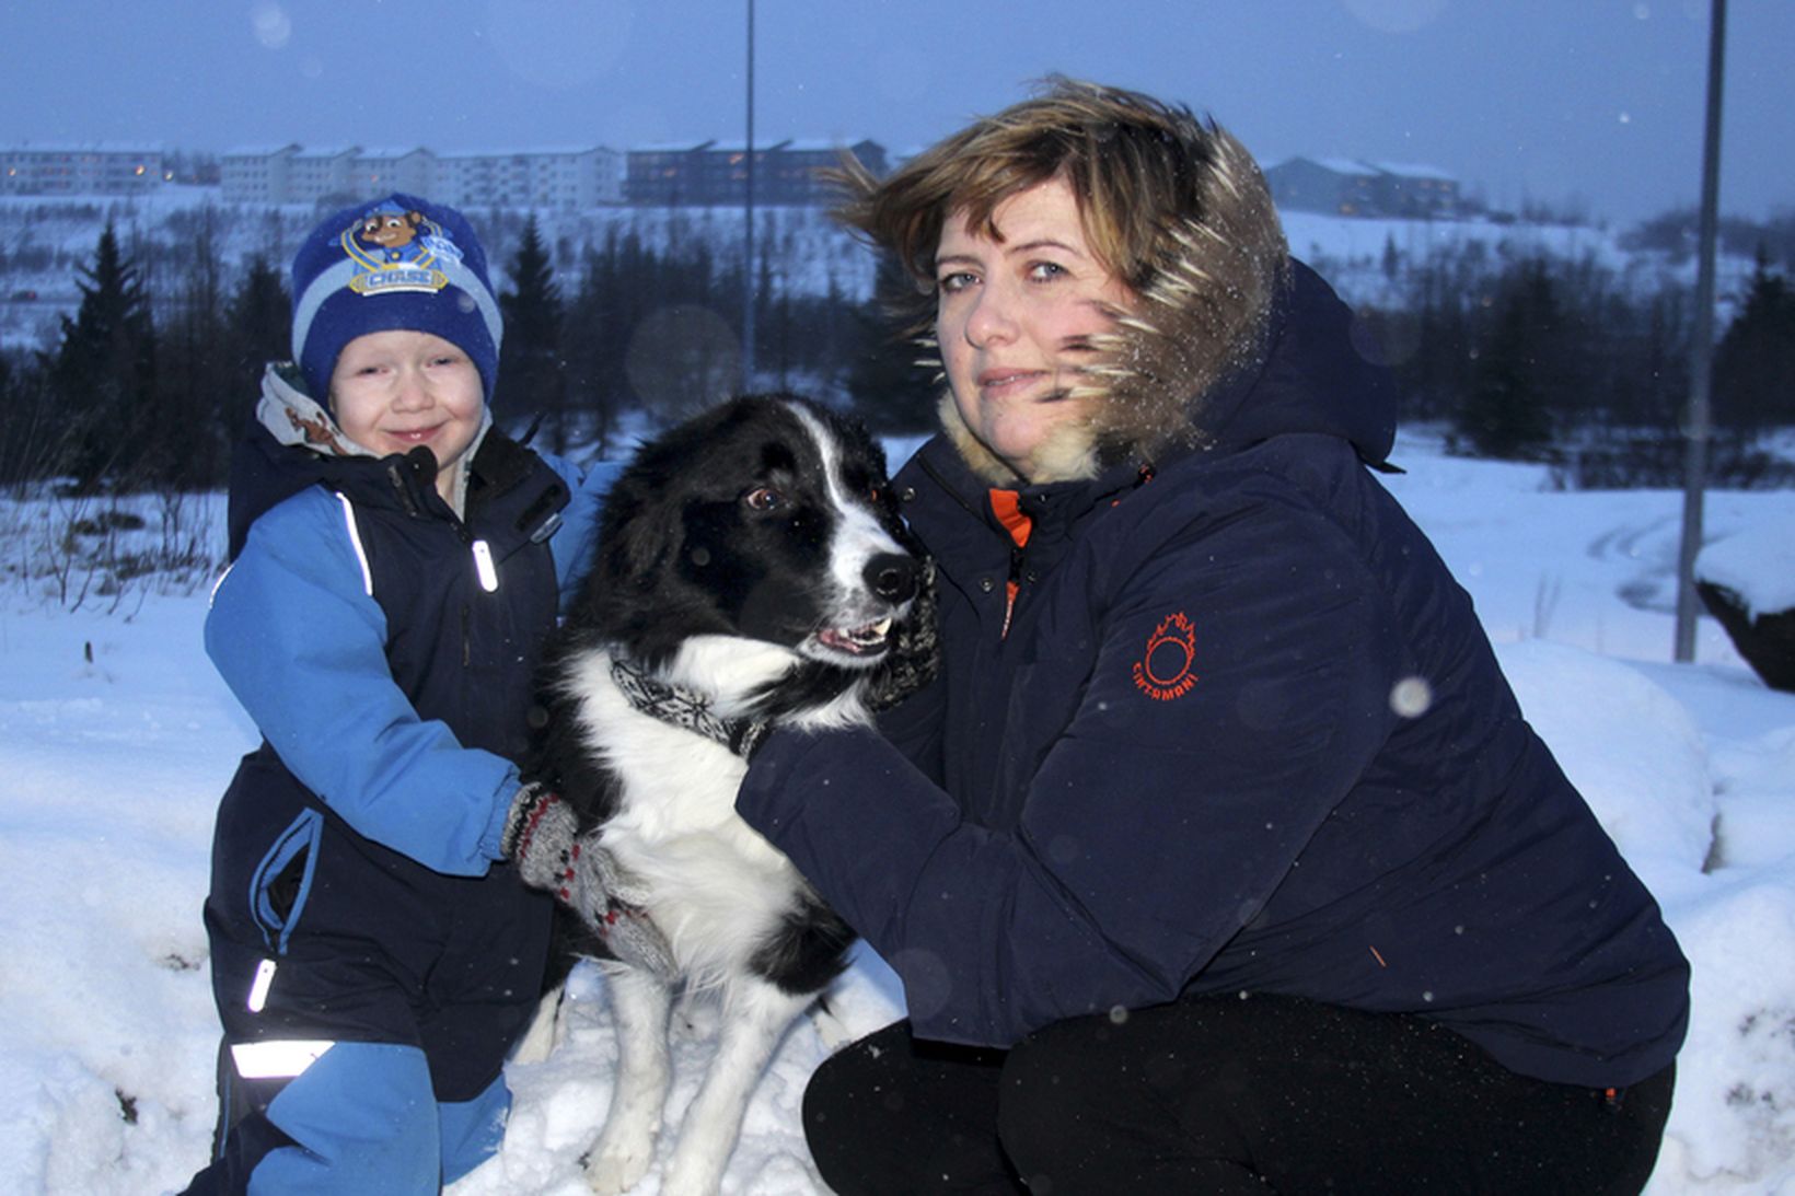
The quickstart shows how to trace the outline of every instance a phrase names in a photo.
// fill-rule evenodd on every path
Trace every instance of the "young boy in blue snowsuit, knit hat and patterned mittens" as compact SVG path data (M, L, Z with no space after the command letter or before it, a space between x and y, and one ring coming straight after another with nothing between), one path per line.
M524 824L564 846L513 761L610 474L492 426L499 339L458 212L395 194L294 257L294 365L237 451L206 618L264 742L214 833L219 1131L190 1192L436 1192L503 1137L551 909L506 857Z

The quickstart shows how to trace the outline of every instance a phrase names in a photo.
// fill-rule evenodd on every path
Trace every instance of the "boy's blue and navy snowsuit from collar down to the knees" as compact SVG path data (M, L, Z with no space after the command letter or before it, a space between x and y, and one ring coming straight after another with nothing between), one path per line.
M463 465L458 514L429 449L368 456L271 370L206 618L264 734L214 828L226 1040L415 1045L451 1103L488 1090L540 989L553 901L499 837L578 567L555 550L589 542L601 483L497 429Z

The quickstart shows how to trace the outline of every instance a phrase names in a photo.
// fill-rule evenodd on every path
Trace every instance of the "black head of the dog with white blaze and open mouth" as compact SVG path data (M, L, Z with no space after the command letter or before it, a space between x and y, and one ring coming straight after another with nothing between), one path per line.
M637 451L569 623L657 670L698 639L752 641L842 690L917 594L906 539L863 429L795 395L734 399Z

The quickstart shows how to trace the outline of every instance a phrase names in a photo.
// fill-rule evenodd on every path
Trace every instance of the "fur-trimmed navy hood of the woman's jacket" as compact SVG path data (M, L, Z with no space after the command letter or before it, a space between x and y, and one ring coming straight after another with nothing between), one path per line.
M1264 176L1219 136L1203 219L1176 230L1176 253L1136 287L1140 303L1093 338L1099 361L1073 397L1090 418L1063 424L1038 454L1034 483L1095 478L1122 462L1163 463L1237 449L1280 431L1323 431L1382 465L1395 436L1395 390L1352 311L1289 257ZM951 393L942 431L982 479L1020 479L960 420Z

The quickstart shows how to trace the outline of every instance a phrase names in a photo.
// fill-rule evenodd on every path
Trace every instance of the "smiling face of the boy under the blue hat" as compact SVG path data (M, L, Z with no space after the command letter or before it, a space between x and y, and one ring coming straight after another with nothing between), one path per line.
M357 336L330 372L330 409L343 435L381 456L427 445L443 497L452 490L449 467L474 444L485 408L479 368L429 332Z

